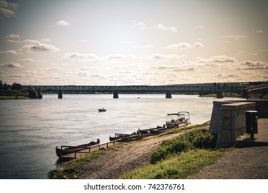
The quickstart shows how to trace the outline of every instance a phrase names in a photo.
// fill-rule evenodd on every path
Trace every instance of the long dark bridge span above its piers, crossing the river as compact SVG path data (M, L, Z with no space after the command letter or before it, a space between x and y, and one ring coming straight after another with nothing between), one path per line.
M29 86L23 86L27 89ZM217 92L231 92L241 94L245 86L241 83L228 85L215 85L215 83L183 84L183 85L35 85L32 88L41 88L43 93L56 94L96 94L96 93L122 93L122 94L216 94Z

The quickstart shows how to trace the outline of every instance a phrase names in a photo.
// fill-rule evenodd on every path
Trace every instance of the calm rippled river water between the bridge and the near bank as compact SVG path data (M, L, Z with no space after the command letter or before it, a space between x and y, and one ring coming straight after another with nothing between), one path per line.
M45 94L43 99L0 100L0 179L47 179L57 167L56 145L80 145L115 133L163 125L166 114L190 112L210 120L215 98L165 94ZM98 112L106 108L107 112Z

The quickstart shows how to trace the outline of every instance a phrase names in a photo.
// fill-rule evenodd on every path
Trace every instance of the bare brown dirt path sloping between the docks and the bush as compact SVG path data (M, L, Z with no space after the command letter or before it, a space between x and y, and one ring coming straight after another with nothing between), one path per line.
M190 130L188 130L190 131ZM180 133L181 134L181 133ZM116 179L124 172L148 163L149 156L166 139L179 134L150 138L139 143L125 145L118 150L111 150L98 159L82 167L82 179Z

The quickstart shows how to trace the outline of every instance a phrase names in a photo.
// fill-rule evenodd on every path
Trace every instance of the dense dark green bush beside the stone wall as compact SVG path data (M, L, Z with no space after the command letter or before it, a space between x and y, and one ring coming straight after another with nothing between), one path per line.
M170 154L185 152L195 148L208 149L216 146L216 134L208 130L194 130L181 134L175 139L163 141L159 148L150 156L150 163L165 159Z

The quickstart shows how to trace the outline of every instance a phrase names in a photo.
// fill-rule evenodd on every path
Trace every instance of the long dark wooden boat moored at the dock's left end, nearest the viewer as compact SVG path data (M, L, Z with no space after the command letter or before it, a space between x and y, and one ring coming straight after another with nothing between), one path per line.
M81 150L85 150L93 145L98 145L100 144L100 139L97 139L97 141L91 141L90 143L85 143L85 144L82 144L82 145L77 145L77 146L67 146L67 145L62 145L61 148L58 148L56 146L56 155L58 157L62 157L62 156L65 156L67 154L71 154L71 153L74 153L74 152L79 152ZM66 147L66 148L64 148ZM63 149L64 148L64 149Z

